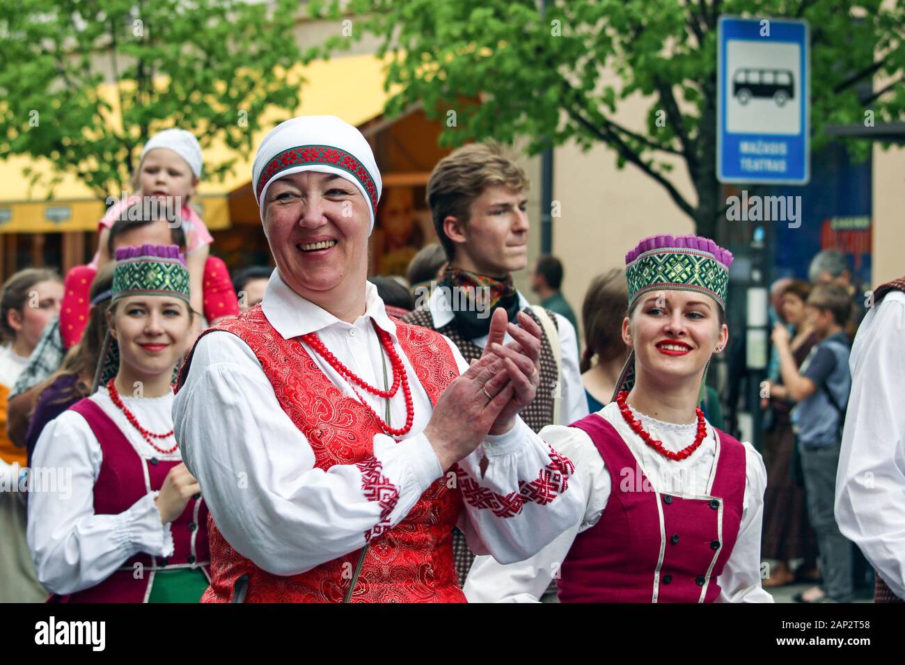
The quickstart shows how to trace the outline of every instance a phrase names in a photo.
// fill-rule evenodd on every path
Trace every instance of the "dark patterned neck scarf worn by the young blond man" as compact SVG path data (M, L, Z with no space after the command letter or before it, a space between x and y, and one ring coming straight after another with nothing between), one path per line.
M516 321L519 294L511 275L498 280L449 266L443 271L440 285L450 290L452 317L462 337L466 339L487 335L491 330L493 312L497 308L506 310L510 322Z

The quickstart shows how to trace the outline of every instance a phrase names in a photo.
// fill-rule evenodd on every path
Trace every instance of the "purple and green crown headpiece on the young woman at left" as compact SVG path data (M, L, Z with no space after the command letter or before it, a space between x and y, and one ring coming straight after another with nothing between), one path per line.
M190 303L186 258L176 245L120 247L112 290L114 302L128 296L169 295Z

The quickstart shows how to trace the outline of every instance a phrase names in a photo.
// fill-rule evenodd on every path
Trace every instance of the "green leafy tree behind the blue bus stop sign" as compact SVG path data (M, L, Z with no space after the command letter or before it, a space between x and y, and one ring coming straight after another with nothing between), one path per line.
M443 119L445 145L529 139L529 151L603 143L619 166L653 178L698 232L724 210L716 180L719 16L804 18L811 26L814 148L828 124L900 119L905 3L882 0L323 0L312 14L344 18L346 33L380 40L390 114L420 103ZM343 35L307 57L349 47ZM872 90L872 81L885 81ZM866 86L867 91L864 90ZM645 122L617 122L635 94ZM454 111L454 116L451 111ZM871 111L865 115L867 111ZM455 123L452 126L451 119ZM644 125L642 127L642 125ZM862 143L862 156L867 147ZM696 200L682 195L674 160ZM671 163L672 160L672 163Z

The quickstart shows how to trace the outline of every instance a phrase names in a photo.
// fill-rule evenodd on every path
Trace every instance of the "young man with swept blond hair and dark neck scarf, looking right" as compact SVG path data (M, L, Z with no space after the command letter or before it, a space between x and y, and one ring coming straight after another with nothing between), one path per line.
M540 385L521 418L539 432L588 411L575 328L559 314L529 305L512 281L512 273L528 265L528 189L525 171L493 143L461 147L434 167L427 204L449 263L437 288L425 289L421 298L415 294L417 307L404 320L443 333L471 362L489 343L510 341L490 339L494 311L505 310L512 323L519 312L532 318L544 331ZM464 584L473 556L459 532L453 547Z

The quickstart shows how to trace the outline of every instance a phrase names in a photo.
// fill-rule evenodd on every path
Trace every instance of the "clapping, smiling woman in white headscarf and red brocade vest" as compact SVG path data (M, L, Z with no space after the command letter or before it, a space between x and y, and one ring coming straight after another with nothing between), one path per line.
M357 128L282 123L254 160L277 270L200 337L174 423L211 509L207 602L463 602L452 527L503 562L584 509L570 461L521 422L540 330L495 318L468 367L367 282L381 180Z

